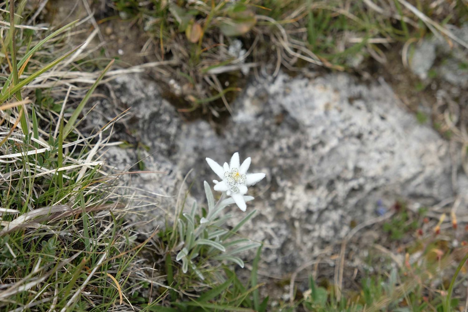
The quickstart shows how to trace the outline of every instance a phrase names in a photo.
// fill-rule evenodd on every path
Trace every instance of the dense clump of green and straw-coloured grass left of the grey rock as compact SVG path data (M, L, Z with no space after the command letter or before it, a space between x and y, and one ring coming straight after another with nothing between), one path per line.
M79 47L43 64L37 54L74 23L37 40L23 31L26 1L9 4L2 32L0 93L0 309L106 311L132 306L132 268L138 244L124 220L129 207L113 192L114 179L98 160L111 123L88 137L75 129L98 75L75 109L65 99L29 100L29 84L43 78ZM16 40L19 37L20 40ZM27 45L19 45L27 44ZM40 89L39 86L36 88ZM43 90L44 92L44 90ZM25 96L25 97L24 97ZM23 98L24 97L24 98ZM60 110L53 108L59 105ZM106 134L107 133L107 134Z

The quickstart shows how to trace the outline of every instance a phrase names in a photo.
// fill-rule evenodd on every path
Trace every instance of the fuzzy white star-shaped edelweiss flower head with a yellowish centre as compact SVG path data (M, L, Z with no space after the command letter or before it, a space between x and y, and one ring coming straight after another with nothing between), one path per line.
M250 166L250 157L244 160L242 165L239 161L239 153L234 153L231 158L231 162L228 165L227 162L221 167L219 164L211 158L206 158L206 162L215 174L219 176L222 181L213 180L215 184L214 190L219 192L226 192L227 196L231 196L234 202L237 204L242 211L245 211L247 205L245 204L244 194L247 193L247 187L254 185L256 182L262 180L265 174L248 174Z

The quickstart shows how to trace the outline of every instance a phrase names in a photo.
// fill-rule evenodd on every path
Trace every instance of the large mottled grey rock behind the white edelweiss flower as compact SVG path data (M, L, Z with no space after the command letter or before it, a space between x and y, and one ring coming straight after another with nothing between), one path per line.
M182 122L156 84L142 76L114 85L117 98L134 112L127 127L150 146L147 169L167 172L132 175L126 182L134 188L176 196L193 169L185 187L195 181L190 194L205 204L203 180L216 179L205 157L222 163L234 152L241 161L252 157L252 172L266 173L249 189L256 199L248 209L258 213L242 234L266 244L263 261L271 274L312 260L350 231L351 220L376 217L379 200L389 209L400 198L431 205L453 196L447 142L418 124L384 81L366 86L346 74L309 79L282 73L252 81L221 134L205 121ZM135 161L131 149L113 147L110 154L111 166ZM161 221L176 197L154 201L162 210L147 218ZM231 225L245 216L235 206L227 210L234 215Z

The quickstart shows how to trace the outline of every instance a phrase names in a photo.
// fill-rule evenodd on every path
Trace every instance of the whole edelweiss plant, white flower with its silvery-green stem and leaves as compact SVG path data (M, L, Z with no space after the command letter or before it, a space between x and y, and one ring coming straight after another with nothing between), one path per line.
M252 196L245 196L247 185L253 185L262 180L265 174L247 174L250 166L250 157L240 165L239 153L234 153L230 165L219 166L215 161L207 158L206 161L213 171L222 179L221 182L214 180L215 190L221 191L222 195L215 204L214 196L208 182L204 181L205 196L208 210L197 213L197 203L194 203L190 213L178 214L169 238L169 245L172 250L178 251L176 261L182 261L182 271L192 270L200 279L205 279L201 268L196 264L197 259L205 261L230 261L244 267L244 262L236 255L258 247L249 239L241 238L228 240L239 231L255 214L251 211L232 230L224 229L224 225L230 214L219 217L219 213L226 206L237 204L242 211L246 210L246 202L254 199ZM230 196L229 198L226 198ZM178 231L176 231L178 230Z

